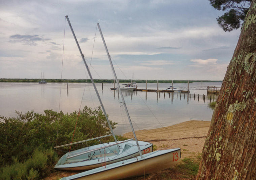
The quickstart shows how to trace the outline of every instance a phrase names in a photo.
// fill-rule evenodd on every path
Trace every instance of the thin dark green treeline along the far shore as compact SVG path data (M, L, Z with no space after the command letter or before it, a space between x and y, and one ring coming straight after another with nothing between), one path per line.
M60 82L69 82L69 83L91 83L91 80L88 79L44 79L48 83L60 83ZM41 79L0 79L2 83L37 83ZM114 83L113 79L95 79L95 83ZM134 80L136 83L146 83L146 80ZM171 83L172 80L158 80L159 83ZM120 83L131 83L131 80L120 79ZM147 80L148 83L157 83L157 80ZM200 81L200 80L189 80L189 83L194 82L216 82L216 81ZM173 80L173 83L188 83L188 80Z

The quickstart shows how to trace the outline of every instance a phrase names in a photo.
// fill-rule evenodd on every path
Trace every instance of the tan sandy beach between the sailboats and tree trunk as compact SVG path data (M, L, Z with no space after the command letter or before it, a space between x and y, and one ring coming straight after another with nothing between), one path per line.
M151 142L157 146L156 150L181 148L182 157L191 153L201 153L210 121L187 121L173 126L136 131L138 140ZM132 132L123 135L133 138Z

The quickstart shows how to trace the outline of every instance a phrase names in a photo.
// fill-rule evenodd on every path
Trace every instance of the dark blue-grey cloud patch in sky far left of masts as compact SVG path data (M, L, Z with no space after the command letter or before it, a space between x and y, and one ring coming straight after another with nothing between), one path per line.
M10 42L11 43L17 43L17 42L22 42L24 44L27 45L37 45L36 42L38 41L47 41L47 40L51 40L51 39L45 39L42 36L40 37L39 35L20 35L20 34L16 34L16 35L12 35L10 36Z

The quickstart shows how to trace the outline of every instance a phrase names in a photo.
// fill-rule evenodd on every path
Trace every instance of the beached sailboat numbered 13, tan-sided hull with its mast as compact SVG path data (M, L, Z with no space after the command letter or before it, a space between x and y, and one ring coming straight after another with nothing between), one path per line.
M67 17L67 16L66 16ZM100 35L102 38L102 41L105 46L105 50L107 52L107 56L110 62L111 69L113 71L113 74L115 76L116 81L118 82L114 66L112 64L110 55L107 50L107 46L104 40L104 37L102 35L101 29L99 24L97 24L98 29L100 31ZM141 176L141 175L146 175L150 174L159 170L163 170L166 168L169 168L171 166L174 166L178 164L181 158L181 149L180 148L175 148L175 149L167 149L167 150L158 150L154 152L149 152L146 154L142 154L136 134L134 132L131 119L126 107L126 103L122 94L122 91L120 89L120 85L117 83L119 87L119 92L124 104L124 108L126 111L126 114L128 116L128 120L133 132L133 136L135 138L138 150L139 150L139 156L136 158L120 161L117 163L113 163L110 165L102 166L99 168L95 168L89 171L85 171L82 173L78 173L69 177L61 178L61 180L72 180L72 179L79 179L79 180L118 180L118 179L123 179L123 178L130 178L130 177L135 177L135 176Z

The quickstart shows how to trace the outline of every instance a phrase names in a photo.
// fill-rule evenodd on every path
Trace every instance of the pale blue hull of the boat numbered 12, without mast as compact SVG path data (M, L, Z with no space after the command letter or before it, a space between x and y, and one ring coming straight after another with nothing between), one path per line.
M138 142L139 142L142 154L150 153L150 152L153 151L153 144L152 143L148 143L148 142L144 142L144 141L138 141ZM114 143L114 142L112 142L112 143ZM126 143L126 144L135 146L136 142L131 141L130 143ZM108 144L105 144L105 145L108 145ZM94 148L97 148L97 146L99 146L99 145L91 146L90 148L94 149ZM103 146L104 146L104 144L103 144ZM122 147L125 147L125 144ZM82 156L83 157L83 158L81 158L82 160L78 159L79 156L77 158L73 158L73 160L72 159L67 160L68 155L76 154L77 152L79 152L79 153L86 152L86 150L84 150L84 149L78 149L76 151L70 152L70 154L66 153L65 155L63 155L62 158L59 160L59 162L56 164L56 166L54 168L57 169L57 170L62 170L62 171L91 170L91 169L94 169L94 168L101 167L103 159L105 159L104 163L106 165L109 165L109 164L112 164L112 163L116 163L116 162L120 162L120 161L123 161L123 160L131 159L132 156L135 157L135 156L139 155L137 146L135 146L135 147L131 146L130 148L133 151L126 150L122 153L119 153L118 155L114 155L113 153L105 153L105 154L102 153L101 155L100 154L95 155L94 159L90 160L90 161L88 161L88 155L87 154L84 154ZM93 152L91 154L93 154ZM67 163L68 161L70 161L70 162Z

